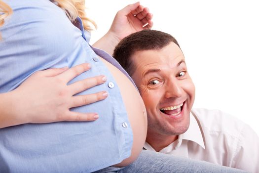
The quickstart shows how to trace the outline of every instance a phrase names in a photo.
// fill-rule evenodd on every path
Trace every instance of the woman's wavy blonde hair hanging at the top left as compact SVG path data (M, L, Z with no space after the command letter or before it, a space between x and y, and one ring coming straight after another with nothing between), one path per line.
M92 24L95 28L97 28L96 23L86 17L85 0L51 0L51 2L62 8L66 12L71 22L73 22L76 17L79 16L82 19L83 27L85 30L93 30L89 24ZM10 16L11 14L12 8L0 0L0 27L4 24L4 19L6 19L6 17Z

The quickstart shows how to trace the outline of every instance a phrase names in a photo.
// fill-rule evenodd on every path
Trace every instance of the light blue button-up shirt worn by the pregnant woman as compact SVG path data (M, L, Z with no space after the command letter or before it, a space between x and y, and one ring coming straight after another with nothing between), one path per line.
M105 84L79 94L107 90L109 97L72 109L97 112L100 118L94 122L24 124L0 129L0 173L88 173L129 157L133 134L126 109L111 73L101 60L96 61L97 54L121 67L106 52L93 50L81 20L78 18L80 27L75 27L51 1L4 1L12 7L13 14L0 28L0 93L15 89L38 70L87 62L91 70L70 83L106 75ZM110 82L113 88L108 87ZM122 127L124 122L127 128Z

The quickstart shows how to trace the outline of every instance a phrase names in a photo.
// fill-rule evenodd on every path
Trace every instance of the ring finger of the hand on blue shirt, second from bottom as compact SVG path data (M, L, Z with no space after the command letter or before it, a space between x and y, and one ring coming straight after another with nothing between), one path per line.
M71 105L70 107L78 107L83 106L86 104L94 103L100 100L103 100L108 97L108 92L101 91L94 94L88 95L77 95L71 98Z

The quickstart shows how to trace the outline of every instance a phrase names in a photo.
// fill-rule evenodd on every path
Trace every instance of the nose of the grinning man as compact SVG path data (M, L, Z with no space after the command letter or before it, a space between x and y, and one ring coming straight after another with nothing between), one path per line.
M166 98L179 98L183 95L183 88L181 82L178 80L171 80L167 83L165 97Z

